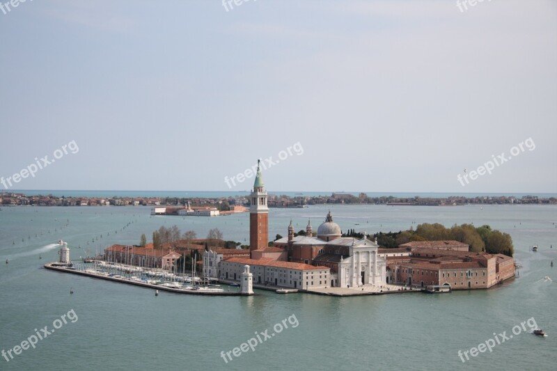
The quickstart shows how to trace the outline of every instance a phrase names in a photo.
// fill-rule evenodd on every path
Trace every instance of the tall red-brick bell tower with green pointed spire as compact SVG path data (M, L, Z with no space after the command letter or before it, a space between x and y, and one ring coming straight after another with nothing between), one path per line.
M267 207L267 191L263 188L260 160L257 160L256 181L251 192L249 207L249 251L267 247L269 244L269 207Z

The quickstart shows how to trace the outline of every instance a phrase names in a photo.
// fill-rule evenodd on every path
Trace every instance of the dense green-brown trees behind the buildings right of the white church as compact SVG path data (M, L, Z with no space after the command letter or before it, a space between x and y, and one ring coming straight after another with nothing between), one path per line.
M485 251L492 254L505 254L512 256L515 253L512 246L512 238L508 233L492 230L490 226L474 227L471 224L456 224L446 228L439 223L423 223L416 227L416 230L409 230L389 233L376 233L379 246L393 248L400 244L411 241L439 241L442 239L454 239L458 242L470 245L470 251Z

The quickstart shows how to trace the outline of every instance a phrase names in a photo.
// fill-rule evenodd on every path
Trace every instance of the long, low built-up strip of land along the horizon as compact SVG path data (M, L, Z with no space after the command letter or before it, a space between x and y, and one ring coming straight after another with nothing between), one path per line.
M76 192L76 191L57 191ZM81 191L80 191L81 192ZM86 192L86 191L83 191ZM108 191L111 192L111 191ZM249 205L248 195L237 195L235 192L211 194L207 192L183 192L180 196L149 196L134 194L135 191L124 192L127 195L113 196L76 196L34 194L34 192L0 192L1 206L166 206L185 207L212 206L219 211L229 211L233 205ZM450 194L407 194L401 196L379 196L361 192L331 193L327 195L311 195L303 193L269 193L269 207L308 207L310 205L389 205L389 206L458 206L458 205L557 205L557 194L537 196L533 194L514 194L509 196L489 194L468 194L469 196L450 196ZM517 196L518 195L518 196Z

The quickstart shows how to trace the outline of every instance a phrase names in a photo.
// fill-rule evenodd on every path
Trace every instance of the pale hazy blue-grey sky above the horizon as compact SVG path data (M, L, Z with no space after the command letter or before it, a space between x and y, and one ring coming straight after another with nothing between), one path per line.
M269 191L557 190L556 1L232 4L0 10L0 176L57 155L11 189L245 190L281 155Z

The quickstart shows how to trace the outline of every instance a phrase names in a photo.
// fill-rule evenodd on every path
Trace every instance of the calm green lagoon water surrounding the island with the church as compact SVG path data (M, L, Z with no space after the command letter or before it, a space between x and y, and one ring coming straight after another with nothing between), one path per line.
M490 290L440 295L338 298L256 291L253 297L166 292L155 297L152 290L59 274L42 265L58 257L58 239L68 242L77 260L86 248L93 254L109 244L136 244L141 233L149 236L161 225L194 229L200 237L218 227L226 239L246 242L249 215L183 218L150 216L150 207L2 207L0 350L20 345L34 329L53 329L70 310L77 321L9 362L0 358L0 370L557 369L557 286L544 279L557 279L557 267L550 267L551 260L557 262L556 206L272 209L269 236L285 236L290 219L295 230L305 229L308 219L317 228L329 208L343 230L369 233L407 229L412 221L489 224L512 235L519 277ZM540 246L538 253L528 251L532 244ZM256 332L273 333L273 326L291 315L296 328L289 325L233 361L221 358L221 351L240 347ZM512 335L513 326L531 318L547 338L521 331L466 363L457 355L493 333Z

